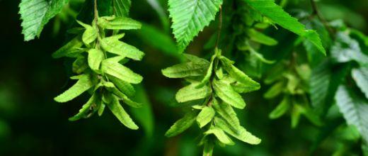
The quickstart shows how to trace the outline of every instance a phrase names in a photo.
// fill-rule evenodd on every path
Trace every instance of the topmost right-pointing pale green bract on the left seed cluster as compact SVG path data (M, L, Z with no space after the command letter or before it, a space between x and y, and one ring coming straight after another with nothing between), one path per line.
M142 24L132 18L105 16L98 18L98 26L111 30L140 29Z

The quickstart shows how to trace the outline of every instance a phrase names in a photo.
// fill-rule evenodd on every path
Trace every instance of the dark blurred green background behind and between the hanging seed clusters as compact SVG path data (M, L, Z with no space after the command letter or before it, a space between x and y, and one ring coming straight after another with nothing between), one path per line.
M132 1L130 16L142 21L144 26L125 38L127 43L146 53L142 62L129 64L144 77L136 99L146 106L130 109L142 128L129 130L111 113L77 122L67 120L87 97L70 101L67 106L53 101L54 96L71 85L68 81L71 71L67 70L70 69L66 67L67 61L54 60L51 53L65 43L66 31L74 24L83 2L71 0L69 6L47 24L41 38L23 42L19 1L0 0L0 155L200 155L202 149L197 147L196 138L199 129L195 126L175 138L163 136L171 124L183 116L174 99L182 82L161 74L161 69L181 61L169 27L166 0ZM311 12L306 0L279 3L297 17ZM368 33L367 0L321 0L318 8L326 20L342 19L347 26ZM211 55L212 50L205 45L216 28L217 22L213 22L186 51L202 57ZM280 27L270 31L270 35L280 44L262 48L260 52L271 60L282 57L282 52L292 48L296 38ZM247 94L246 109L236 110L241 124L263 142L215 148L214 155L338 155L337 151L345 150L351 151L351 155L362 155L357 143L360 140L356 139L359 133L347 127L343 118L325 126L326 137L321 137L321 128L305 118L301 118L294 129L287 116L270 120L268 113L275 104L263 98L267 89L267 85L262 85L259 91Z

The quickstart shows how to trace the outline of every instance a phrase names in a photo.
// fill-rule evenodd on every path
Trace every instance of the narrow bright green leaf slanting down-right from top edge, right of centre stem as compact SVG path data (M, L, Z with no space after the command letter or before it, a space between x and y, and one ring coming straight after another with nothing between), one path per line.
M321 43L321 39L319 38L318 33L315 30L306 30L305 26L297 20L297 18L293 18L289 15L289 13L285 12L280 6L275 4L274 0L243 0L252 9L258 11L261 15L270 18L273 22L282 26L287 30L300 35L301 37L306 38L306 40L311 41L316 48L321 51L324 55L326 55L326 50L323 48Z

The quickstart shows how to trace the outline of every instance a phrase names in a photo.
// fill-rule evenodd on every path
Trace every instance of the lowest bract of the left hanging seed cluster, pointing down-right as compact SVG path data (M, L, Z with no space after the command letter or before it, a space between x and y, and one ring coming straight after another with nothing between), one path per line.
M110 95L112 100L108 104L108 108L110 108L110 111L113 112L114 116L127 128L130 128L132 130L137 130L138 126L134 123L132 118L130 118L129 114L122 108L122 106L119 103L119 99L115 95Z

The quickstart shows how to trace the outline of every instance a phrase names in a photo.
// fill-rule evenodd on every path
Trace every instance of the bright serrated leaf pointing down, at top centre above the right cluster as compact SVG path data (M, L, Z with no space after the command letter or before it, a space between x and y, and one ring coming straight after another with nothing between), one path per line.
M173 34L180 52L190 41L214 20L222 0L169 0L168 11L172 18Z

